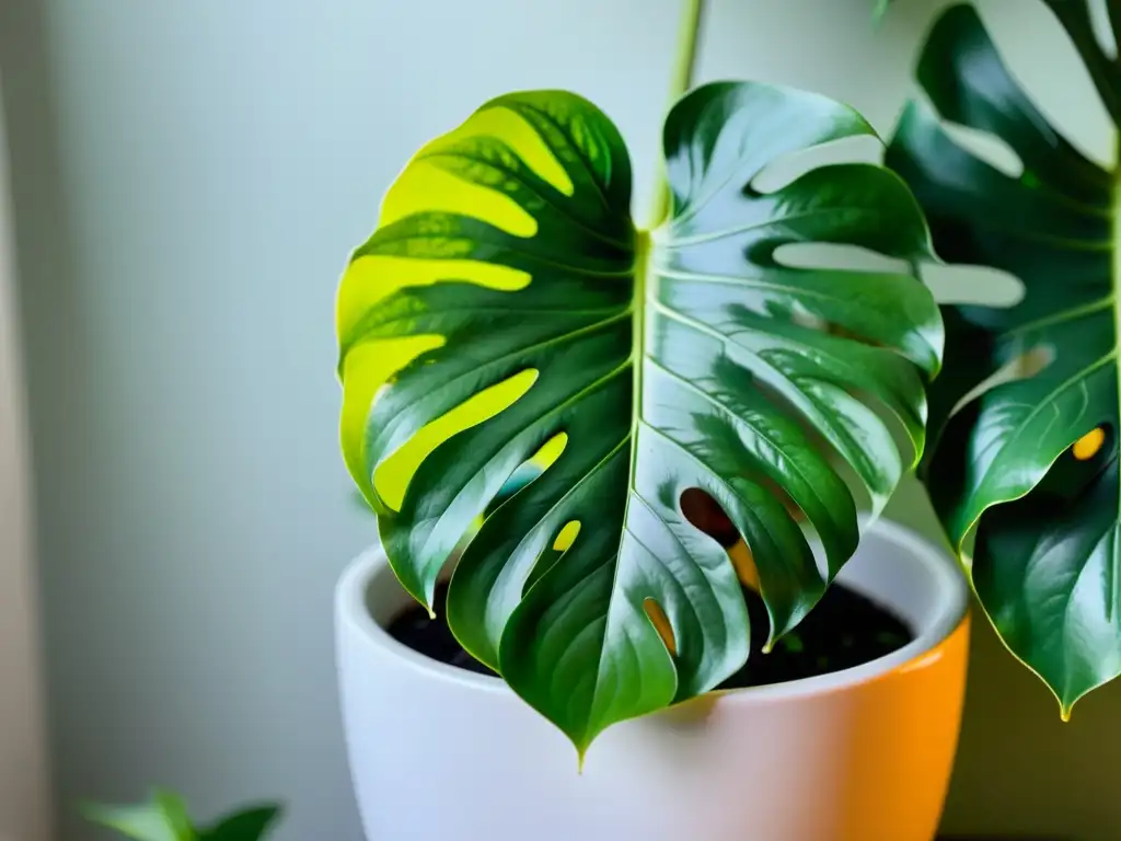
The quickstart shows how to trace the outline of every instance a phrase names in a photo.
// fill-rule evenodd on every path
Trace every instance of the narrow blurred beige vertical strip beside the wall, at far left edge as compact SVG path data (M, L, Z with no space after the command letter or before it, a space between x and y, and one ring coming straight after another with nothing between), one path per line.
M15 267L0 111L0 841L47 841L47 758Z

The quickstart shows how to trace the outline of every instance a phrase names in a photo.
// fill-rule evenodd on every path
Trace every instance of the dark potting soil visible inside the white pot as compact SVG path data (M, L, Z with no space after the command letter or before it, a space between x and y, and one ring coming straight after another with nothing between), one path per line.
M751 656L747 665L720 688L762 686L840 672L883 657L910 643L915 636L898 617L860 593L834 583L803 619L780 639L770 654L762 653L770 628L767 609L752 590L744 590L751 621ZM478 674L493 675L463 650L444 620L447 585L436 589L436 619L419 604L401 611L389 625L389 635L432 659Z

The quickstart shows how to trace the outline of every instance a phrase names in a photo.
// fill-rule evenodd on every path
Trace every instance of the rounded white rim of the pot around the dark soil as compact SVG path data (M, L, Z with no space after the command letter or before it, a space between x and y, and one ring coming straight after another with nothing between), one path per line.
M719 696L722 704L732 705L819 696L878 680L891 672L919 668L927 659L936 657L934 649L967 621L970 591L964 575L948 553L906 526L879 519L870 526L870 533L895 543L900 549L901 561L906 558L907 563L924 567L937 582L937 610L918 629L915 639L891 654L830 674L762 686L719 690L706 695ZM391 637L370 614L367 601L372 588L387 585L400 590L402 603L408 603L409 597L400 588L386 553L379 544L374 544L352 561L339 580L335 612L340 631L360 636L365 644L433 681L461 690L515 696L513 690L499 677L441 663Z

